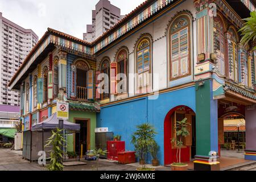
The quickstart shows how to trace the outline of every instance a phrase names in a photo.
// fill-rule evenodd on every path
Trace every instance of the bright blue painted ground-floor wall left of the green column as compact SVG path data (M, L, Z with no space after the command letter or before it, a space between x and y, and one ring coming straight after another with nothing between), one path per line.
M109 127L114 135L121 135L125 141L126 151L133 151L131 135L136 131L137 125L149 122L154 125L156 142L160 146L159 160L164 163L164 118L172 108L185 105L196 110L195 87L184 88L174 92L159 94L156 100L143 97L137 100L121 102L101 108L97 115L97 127ZM150 159L149 159L150 160ZM150 161L148 161L150 162Z

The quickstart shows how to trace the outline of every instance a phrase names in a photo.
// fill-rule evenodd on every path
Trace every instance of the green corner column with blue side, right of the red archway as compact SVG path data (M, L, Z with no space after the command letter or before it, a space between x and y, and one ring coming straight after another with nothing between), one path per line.
M196 155L218 152L218 107L213 100L212 80L196 86Z

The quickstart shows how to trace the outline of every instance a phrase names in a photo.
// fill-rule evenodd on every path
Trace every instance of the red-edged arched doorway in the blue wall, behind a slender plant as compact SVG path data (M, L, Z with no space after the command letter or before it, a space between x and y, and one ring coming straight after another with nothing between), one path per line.
M189 162L196 155L196 114L187 106L177 106L171 109L164 119L164 165L177 162L177 147L175 143L171 143L171 139L176 135L175 122L184 118L187 118L191 125L188 127L190 135L183 139L181 162Z

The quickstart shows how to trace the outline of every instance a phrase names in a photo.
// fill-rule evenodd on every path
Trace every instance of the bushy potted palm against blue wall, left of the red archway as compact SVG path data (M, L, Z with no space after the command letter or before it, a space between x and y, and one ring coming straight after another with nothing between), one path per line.
M145 159L146 155L149 152L150 146L155 143L155 129L148 123L143 123L142 125L138 125L137 131L135 131L132 135L131 143L134 144L136 154L139 158L139 164L143 165L142 168L138 168L137 170L151 170L150 168L146 168Z

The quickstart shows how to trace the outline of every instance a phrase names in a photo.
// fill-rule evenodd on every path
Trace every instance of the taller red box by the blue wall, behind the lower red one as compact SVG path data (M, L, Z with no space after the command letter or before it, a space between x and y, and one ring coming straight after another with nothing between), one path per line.
M118 160L118 152L125 151L125 141L107 141L108 159Z

